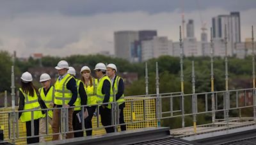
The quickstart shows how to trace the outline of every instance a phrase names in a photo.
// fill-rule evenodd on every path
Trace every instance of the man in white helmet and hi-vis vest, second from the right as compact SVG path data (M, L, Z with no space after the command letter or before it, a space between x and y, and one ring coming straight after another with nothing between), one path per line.
M106 66L103 63L98 63L95 66L95 73L97 78L99 79L98 81L98 86L97 86L97 103L106 103L106 102L112 102L113 97L111 97L112 93L112 87L111 87L111 81L106 76ZM108 126L111 125L111 104L104 104L100 106L100 118L101 118L101 123L102 125ZM115 132L114 127L106 127L105 128L107 133L110 132Z

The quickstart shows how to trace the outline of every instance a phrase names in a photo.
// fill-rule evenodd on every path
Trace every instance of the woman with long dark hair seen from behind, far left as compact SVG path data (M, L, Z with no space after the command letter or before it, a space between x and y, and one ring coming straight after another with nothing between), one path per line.
M32 113L34 120L34 135L39 134L39 119L43 117L42 111L40 111L40 103L38 102L38 95L36 88L33 85L32 75L29 72L24 72L21 76L21 88L19 89L19 111L20 110L35 110L25 111L19 113L19 119L22 122L26 122L27 137L31 136L31 121ZM37 110L37 111L36 111ZM39 111L38 111L39 110ZM27 139L28 144L39 142L39 137L32 137Z

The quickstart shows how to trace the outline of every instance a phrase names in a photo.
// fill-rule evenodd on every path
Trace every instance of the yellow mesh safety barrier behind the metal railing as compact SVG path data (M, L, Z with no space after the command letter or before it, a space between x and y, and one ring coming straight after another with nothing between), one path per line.
M147 100L143 101L138 99L147 99ZM127 101L134 100L132 102L132 111L131 111L131 102L125 103L124 120L125 120L125 123L129 123L127 125L127 130L133 130L136 128L144 128L144 127L157 127L156 120L143 121L144 116L145 116L145 120L156 119L156 103L155 103L156 100L155 99L149 99L148 97L125 97L125 100ZM143 111L144 106L145 106L145 111ZM5 112L5 111L12 111L12 108L10 107L0 108L0 112ZM133 122L135 121L141 121L141 122L131 123L131 116L132 116ZM100 116L99 116L99 120L100 120ZM4 140L7 140L9 138L9 132L8 132L9 121L11 121L10 130L12 135L12 120L9 119L8 114L0 114L0 127L3 128L4 130ZM97 117L95 116L93 116L92 118L92 126L93 126L93 132L92 132L93 135L106 134L106 131L104 128L97 128ZM102 124L100 123L99 126L102 127ZM120 131L120 127L118 127L118 131ZM49 134L51 133L52 133L52 129L51 129L51 126L49 125ZM86 133L84 132L84 136L85 135ZM20 121L19 121L19 137L26 137L26 123L22 123ZM45 141L51 141L51 140L52 140L52 135L45 137ZM26 144L26 139L15 139L15 144Z

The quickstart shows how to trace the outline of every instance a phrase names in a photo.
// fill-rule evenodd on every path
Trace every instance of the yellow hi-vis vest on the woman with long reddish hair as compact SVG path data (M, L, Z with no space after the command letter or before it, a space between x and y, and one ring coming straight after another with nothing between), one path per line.
M86 95L87 95L87 104L92 106L97 104L97 95L96 95L96 91L97 91L97 84L98 84L98 79L92 78L92 86L88 85L87 87L84 86L85 90L86 90Z

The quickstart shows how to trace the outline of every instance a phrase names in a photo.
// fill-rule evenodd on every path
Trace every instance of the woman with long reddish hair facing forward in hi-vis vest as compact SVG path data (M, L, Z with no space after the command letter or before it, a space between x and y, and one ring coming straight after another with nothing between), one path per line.
M98 79L95 79L91 75L91 70L88 66L83 66L81 68L81 81L84 83L84 88L86 90L87 95L87 110L88 110L88 117L84 121L84 127L92 128L92 117L93 113L97 106L93 106L97 104L97 96L96 96L96 88L98 84ZM92 135L92 130L86 131L86 136Z

